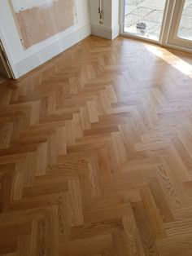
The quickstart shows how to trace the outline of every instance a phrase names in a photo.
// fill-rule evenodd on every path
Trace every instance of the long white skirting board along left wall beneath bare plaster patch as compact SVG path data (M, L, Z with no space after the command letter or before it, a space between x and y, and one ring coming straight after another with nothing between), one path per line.
M81 29L78 29L75 32L70 33L68 36L59 39L58 41L50 44L50 46L46 46L46 48L42 49L41 51L35 52L26 59L14 64L15 77L18 78L23 76L25 73L28 73L41 64L44 64L47 60L59 55L61 52L67 50L77 42L87 38L89 35L90 24L86 24Z

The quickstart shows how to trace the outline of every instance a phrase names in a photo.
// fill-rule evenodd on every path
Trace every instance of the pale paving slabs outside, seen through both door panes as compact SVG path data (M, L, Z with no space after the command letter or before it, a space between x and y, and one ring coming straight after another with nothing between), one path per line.
M126 0L124 31L158 40L165 2L166 0ZM146 24L146 29L137 29L137 23ZM181 38L192 39L192 0L185 1L178 35Z

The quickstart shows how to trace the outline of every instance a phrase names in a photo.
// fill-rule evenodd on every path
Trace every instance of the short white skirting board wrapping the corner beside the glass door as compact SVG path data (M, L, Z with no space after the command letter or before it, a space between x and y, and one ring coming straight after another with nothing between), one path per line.
M91 34L113 40L120 35L120 24L117 24L113 28L101 24L91 24Z

